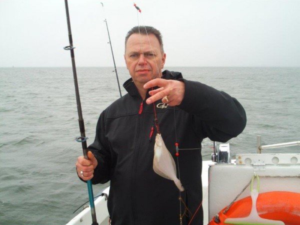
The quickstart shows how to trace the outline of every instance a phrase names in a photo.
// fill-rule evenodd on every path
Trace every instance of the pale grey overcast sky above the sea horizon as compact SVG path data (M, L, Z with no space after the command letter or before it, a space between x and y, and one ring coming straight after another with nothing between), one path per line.
M131 0L69 0L77 66L117 66L137 25ZM300 1L136 0L163 35L166 66L300 66ZM70 66L63 0L0 0L0 67Z

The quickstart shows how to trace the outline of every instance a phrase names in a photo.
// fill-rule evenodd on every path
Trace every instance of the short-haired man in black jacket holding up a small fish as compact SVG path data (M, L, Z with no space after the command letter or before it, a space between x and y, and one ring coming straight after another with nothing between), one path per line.
M111 224L180 222L177 187L152 168L155 117L174 158L175 142L179 148L190 148L179 150L178 165L184 187L181 203L191 213L202 200L202 139L225 142L245 127L244 109L235 98L185 80L179 72L161 73L165 57L158 30L150 26L129 30L124 58L131 78L123 84L128 93L101 113L95 140L88 147L89 160L79 156L76 162L82 180L91 179L93 184L110 180L107 207ZM181 219L187 224L191 214L185 211L183 215L184 204ZM191 224L202 223L203 212L199 210Z

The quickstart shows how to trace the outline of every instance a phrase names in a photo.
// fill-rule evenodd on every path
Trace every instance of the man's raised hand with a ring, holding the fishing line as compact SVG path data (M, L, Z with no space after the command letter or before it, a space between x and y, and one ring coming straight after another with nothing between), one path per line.
M155 90L149 91L151 97L146 99L147 104L151 104L158 99L170 106L179 105L184 97L184 82L173 79L155 78L143 85L143 88L148 89L154 86L159 86Z

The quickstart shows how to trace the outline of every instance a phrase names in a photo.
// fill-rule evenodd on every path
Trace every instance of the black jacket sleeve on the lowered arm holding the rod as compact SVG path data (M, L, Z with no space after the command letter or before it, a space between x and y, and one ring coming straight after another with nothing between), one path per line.
M94 142L88 146L98 161L94 169L94 176L91 179L93 184L105 183L110 179L110 150L108 140L105 137L105 110L100 114L96 126L96 135Z

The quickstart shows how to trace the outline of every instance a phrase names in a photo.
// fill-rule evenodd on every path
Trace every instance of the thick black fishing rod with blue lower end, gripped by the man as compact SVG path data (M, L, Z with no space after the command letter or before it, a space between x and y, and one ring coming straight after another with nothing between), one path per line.
M69 38L69 44L70 45L65 46L63 49L64 50L70 50L70 53L71 53L71 61L72 61L75 93L76 93L76 102L77 102L77 111L78 111L78 122L79 122L80 134L81 134L81 136L76 137L76 140L78 142L81 142L84 158L88 159L87 145L86 145L87 137L85 137L84 122L83 122L83 117L82 117L82 110L81 110L81 103L80 103L80 96L79 96L79 88L78 88L78 82L77 82L76 65L75 65L74 47L73 47L73 40L72 40L72 33L71 33L71 25L70 25L70 19L69 19L69 11L68 11L67 0L64 0L64 5L65 5L67 30L68 30L68 38ZM89 198L89 204L90 204L92 225L98 225L97 219L96 219L95 205L94 205L94 201L93 201L91 180L87 180L87 189L88 189L88 198Z

